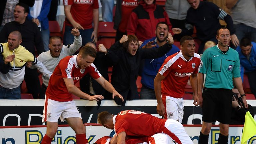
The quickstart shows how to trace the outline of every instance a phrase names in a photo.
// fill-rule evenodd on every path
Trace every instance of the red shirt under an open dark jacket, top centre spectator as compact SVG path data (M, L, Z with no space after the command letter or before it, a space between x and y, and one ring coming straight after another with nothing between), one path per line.
M128 23L128 19L132 10L138 6L138 0L123 0L121 4L121 22L119 24L118 30L120 32L126 32L126 27Z

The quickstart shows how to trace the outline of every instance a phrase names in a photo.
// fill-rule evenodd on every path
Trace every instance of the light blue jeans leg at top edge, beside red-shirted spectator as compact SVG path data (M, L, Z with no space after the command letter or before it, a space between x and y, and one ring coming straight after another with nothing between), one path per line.
M102 5L102 19L104 22L113 21L114 0L100 0Z

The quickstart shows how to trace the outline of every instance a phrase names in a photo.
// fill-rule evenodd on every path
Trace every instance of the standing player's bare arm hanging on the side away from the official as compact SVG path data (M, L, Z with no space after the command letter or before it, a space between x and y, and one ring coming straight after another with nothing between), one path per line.
M156 95L156 100L157 100L156 111L162 117L164 117L164 115L165 115L165 107L164 107L162 97L161 97L161 81L164 78L165 78L165 76L162 76L160 73L157 73L157 75L154 79L155 95Z

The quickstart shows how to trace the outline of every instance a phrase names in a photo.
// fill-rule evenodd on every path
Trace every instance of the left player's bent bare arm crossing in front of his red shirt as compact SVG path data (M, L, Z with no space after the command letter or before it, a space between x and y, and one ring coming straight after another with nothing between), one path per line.
M104 97L102 95L94 95L94 96L90 96L84 92L82 92L79 88L77 88L75 85L74 85L74 81L72 78L63 78L64 79L64 82L66 84L66 87L68 89L68 92L72 93L73 95L76 95L80 98L83 98L83 99L88 99L89 101L93 101L93 100L96 100L96 101L99 101L99 99L103 99Z

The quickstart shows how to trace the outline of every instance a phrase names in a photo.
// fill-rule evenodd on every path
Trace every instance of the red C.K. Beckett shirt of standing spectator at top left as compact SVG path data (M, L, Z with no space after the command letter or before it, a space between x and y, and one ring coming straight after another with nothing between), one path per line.
M93 9L99 8L98 0L63 0L63 4L64 6L72 5L70 13L73 19L84 29L92 28ZM67 18L65 19L65 24L72 26Z

